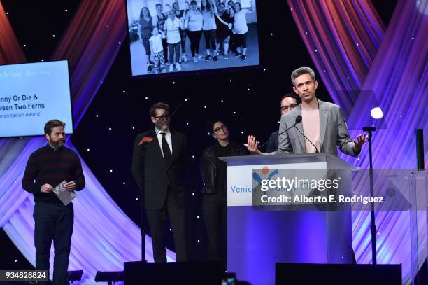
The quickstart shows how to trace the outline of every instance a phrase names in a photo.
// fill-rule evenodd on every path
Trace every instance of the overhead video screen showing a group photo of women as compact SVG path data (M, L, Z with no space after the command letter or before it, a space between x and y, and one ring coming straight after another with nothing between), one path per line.
M256 0L127 0L132 76L259 65Z

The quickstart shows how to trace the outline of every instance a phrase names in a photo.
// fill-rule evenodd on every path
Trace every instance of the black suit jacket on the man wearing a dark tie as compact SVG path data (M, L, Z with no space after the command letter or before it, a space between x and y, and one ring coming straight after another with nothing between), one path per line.
M170 130L172 158L166 165L159 146L155 128L138 134L134 142L132 174L141 190L144 190L145 209L160 210L164 207L168 183L176 197L178 207L184 208L185 153L187 139L184 134ZM143 137L153 140L141 144Z

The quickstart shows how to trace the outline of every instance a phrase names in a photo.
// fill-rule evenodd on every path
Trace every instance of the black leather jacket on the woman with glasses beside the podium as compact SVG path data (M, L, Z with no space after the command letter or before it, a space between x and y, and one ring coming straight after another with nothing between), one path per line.
M230 143L234 144L234 143ZM230 156L241 156L248 155L247 151L243 146L234 144L232 147ZM215 179L217 176L217 155L214 151L213 146L208 146L204 149L201 156L201 177L204 186L202 187L202 193L214 194L215 190Z

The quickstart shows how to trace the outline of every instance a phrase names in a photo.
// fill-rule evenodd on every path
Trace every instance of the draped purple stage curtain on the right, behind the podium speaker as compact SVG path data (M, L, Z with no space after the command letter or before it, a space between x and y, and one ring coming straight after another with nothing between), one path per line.
M370 1L287 0L321 83L344 113L351 113L358 90L372 90L383 109L386 129L373 134L373 167L416 168L415 129L427 133L427 1L399 0L385 30ZM361 113L361 125L370 110ZM366 115L364 115L366 114ZM351 137L362 133L350 132ZM427 149L427 141L425 149ZM341 155L359 167L369 167L368 146L360 159ZM425 153L425 165L428 155ZM403 281L418 272L427 251L427 220L418 214L411 225L408 212L376 213L378 263L403 263ZM358 263L371 263L370 214L352 213L352 236ZM411 234L418 245L411 248ZM416 247L416 248L415 248ZM415 260L413 251L420 251Z

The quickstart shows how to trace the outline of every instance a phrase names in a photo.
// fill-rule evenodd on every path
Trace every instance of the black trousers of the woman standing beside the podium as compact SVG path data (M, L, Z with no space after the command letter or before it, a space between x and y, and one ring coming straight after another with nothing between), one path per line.
M226 264L226 194L204 194L202 212L208 234L208 260Z

